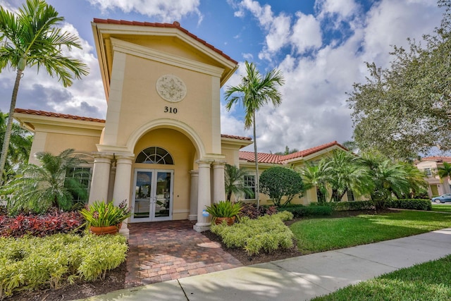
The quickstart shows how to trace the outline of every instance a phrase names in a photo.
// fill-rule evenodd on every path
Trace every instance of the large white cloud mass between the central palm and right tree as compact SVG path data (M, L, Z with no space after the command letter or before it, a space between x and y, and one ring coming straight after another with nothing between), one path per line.
M442 11L432 2L435 4L431 0L381 0L363 15L362 8L351 0L318 1L316 16L297 12L294 25L285 27L285 32L292 35L290 39L284 36L284 43L295 49L287 53L281 47L269 51L267 41L272 37L272 25L267 17L273 16L268 11L271 7L241 1L242 13L245 9L251 11L259 18L259 25L264 25L261 27L266 43L260 53L271 52L271 56L261 58L270 57L273 66L278 66L285 76L280 107L264 106L257 113L259 151L278 152L285 145L307 149L333 140L350 140L352 121L346 92L352 91L354 82L364 82L365 61L387 66L391 59L390 44L405 45L407 37L421 39L421 35L431 33L439 25ZM346 22L346 35L321 42L331 28L327 22L333 23L337 34L343 30L340 23ZM308 49L315 51L302 56ZM276 61L273 54L284 59Z

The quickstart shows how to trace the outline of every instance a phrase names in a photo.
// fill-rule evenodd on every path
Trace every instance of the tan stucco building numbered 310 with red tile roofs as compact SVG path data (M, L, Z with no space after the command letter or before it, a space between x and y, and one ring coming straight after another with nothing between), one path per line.
M35 134L30 163L37 163L36 152L75 149L89 158L80 166L89 171L80 179L89 203L127 199L132 223L190 219L196 231L206 230L202 211L226 198L224 165L253 168L249 153L240 152L252 140L221 135L220 89L237 61L177 22L94 19L92 30L106 120L16 109L16 120ZM344 148L331 142L287 156L259 154L261 171L301 166L333 149ZM316 192L299 199L309 201Z

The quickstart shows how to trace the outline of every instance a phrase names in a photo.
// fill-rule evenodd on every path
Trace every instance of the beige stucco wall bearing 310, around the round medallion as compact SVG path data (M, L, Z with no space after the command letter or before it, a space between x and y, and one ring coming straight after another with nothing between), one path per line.
M167 102L156 92L156 80L166 74L176 75L185 82L187 94L182 101ZM206 153L217 154L220 152L221 125L220 119L213 118L213 114L219 111L219 107L214 107L219 97L218 82L219 78L211 75L127 55L116 145L126 145L130 135L149 121L169 118L197 133ZM177 113L171 113L174 109ZM109 126L107 116L107 130Z

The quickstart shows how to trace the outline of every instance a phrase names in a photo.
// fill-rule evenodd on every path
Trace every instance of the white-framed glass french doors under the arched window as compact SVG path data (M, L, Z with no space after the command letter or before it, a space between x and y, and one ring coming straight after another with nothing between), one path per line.
M135 169L132 222L172 219L173 174L166 169Z

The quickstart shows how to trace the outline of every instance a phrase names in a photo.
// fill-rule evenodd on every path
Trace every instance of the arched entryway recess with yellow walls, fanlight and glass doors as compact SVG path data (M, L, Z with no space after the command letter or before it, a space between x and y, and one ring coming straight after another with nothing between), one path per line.
M156 128L137 140L130 222L188 219L196 149L183 133Z

